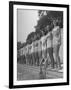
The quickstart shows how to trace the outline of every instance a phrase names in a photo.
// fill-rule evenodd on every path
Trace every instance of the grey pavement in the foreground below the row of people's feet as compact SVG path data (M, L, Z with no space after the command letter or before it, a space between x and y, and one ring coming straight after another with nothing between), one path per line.
M40 67L17 64L17 80L38 80L40 79ZM47 68L45 79L63 78L63 69Z

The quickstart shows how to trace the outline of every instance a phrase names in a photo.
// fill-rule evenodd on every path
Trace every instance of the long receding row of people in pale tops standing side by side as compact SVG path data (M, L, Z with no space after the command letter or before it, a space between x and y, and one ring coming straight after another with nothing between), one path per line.
M44 59L47 67L61 67L63 61L63 28L56 26L47 35L19 50L20 60L27 65L39 66Z

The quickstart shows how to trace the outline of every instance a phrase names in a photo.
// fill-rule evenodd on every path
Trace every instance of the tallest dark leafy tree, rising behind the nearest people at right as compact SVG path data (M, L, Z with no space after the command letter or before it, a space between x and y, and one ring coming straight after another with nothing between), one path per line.
M44 14L46 12L46 14ZM63 12L62 11L38 11L39 20L36 27L38 30L42 30L44 34L47 34L55 25L63 27ZM45 27L49 26L48 29Z

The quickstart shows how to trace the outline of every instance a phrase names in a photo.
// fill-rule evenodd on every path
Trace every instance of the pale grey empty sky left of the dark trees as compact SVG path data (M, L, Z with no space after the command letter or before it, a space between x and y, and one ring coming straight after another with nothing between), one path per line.
M26 38L30 32L34 32L34 26L37 25L38 11L37 10L17 10L17 40L26 42Z

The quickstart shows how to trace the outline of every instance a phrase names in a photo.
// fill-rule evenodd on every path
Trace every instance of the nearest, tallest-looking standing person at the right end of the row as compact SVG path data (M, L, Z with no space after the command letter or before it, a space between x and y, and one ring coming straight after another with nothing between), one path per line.
M60 63L60 56L59 56L59 50L61 46L61 29L59 26L56 26L53 30L54 32L54 40L53 40L53 45L54 45L54 52L55 52L55 61L56 61L56 68L61 68L61 63Z

